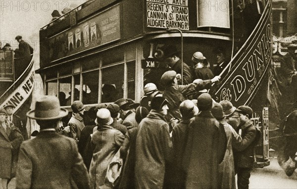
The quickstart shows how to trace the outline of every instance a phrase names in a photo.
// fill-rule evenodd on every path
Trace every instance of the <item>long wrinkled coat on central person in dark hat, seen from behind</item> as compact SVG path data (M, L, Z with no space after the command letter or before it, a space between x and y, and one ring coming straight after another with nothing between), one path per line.
M136 189L161 189L165 164L172 161L169 126L163 115L150 110L139 125L136 137Z

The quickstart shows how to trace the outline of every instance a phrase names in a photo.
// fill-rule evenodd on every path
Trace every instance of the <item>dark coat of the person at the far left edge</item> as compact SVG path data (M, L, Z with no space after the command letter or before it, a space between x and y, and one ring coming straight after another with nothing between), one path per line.
M24 141L20 131L6 122L6 132L0 126L0 178L10 179L15 177L18 151Z

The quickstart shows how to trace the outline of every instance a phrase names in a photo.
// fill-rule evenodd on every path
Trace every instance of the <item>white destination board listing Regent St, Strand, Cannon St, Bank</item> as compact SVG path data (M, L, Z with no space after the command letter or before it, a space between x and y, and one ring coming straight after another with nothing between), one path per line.
M189 30L188 0L147 0L147 27Z

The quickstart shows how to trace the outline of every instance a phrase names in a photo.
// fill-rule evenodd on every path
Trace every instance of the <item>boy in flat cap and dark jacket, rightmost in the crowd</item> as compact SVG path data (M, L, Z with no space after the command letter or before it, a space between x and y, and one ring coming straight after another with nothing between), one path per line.
M256 128L250 120L252 109L243 105L236 109L239 112L240 127L242 130L241 137L243 142L234 145L234 161L237 170L237 187L238 189L248 189L250 172L253 167L253 147L256 139Z

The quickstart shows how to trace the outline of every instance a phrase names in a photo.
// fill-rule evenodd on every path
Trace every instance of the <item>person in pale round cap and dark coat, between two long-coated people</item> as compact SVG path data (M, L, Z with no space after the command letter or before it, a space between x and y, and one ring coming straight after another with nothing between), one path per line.
M198 115L198 107L191 100L185 100L180 105L182 119L172 130L173 164L169 171L170 188L182 189L185 184L186 172L182 169L182 159L188 140L190 119Z

